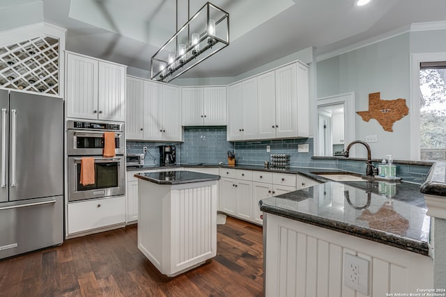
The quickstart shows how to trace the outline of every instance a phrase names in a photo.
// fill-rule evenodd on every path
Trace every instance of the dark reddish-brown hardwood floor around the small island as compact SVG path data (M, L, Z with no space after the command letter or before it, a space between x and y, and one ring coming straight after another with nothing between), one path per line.
M228 217L217 256L176 278L137 248L137 227L0 260L0 296L263 296L262 229Z

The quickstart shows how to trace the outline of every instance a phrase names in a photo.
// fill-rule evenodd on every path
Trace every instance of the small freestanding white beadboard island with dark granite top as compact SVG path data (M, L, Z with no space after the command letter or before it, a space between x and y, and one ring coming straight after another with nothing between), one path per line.
M151 172L138 178L138 248L164 275L197 267L217 252L219 175Z

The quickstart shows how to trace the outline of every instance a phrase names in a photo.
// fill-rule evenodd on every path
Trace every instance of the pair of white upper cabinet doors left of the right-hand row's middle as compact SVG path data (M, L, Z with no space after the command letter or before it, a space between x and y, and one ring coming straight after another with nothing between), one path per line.
M227 140L256 139L257 116L257 77L229 86Z

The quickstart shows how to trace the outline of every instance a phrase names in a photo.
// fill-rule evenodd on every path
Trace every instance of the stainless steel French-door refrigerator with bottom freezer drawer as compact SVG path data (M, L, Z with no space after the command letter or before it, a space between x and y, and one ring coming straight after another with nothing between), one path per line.
M0 259L63 242L63 100L0 90Z

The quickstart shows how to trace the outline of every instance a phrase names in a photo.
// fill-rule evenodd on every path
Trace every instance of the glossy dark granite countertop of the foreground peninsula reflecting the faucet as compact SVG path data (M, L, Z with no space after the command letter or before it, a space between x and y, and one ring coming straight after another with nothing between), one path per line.
M270 214L429 255L430 216L417 184L325 182L259 204Z

